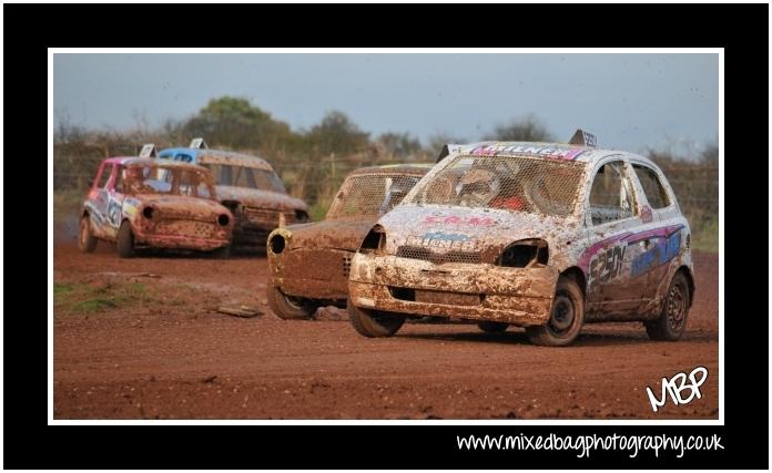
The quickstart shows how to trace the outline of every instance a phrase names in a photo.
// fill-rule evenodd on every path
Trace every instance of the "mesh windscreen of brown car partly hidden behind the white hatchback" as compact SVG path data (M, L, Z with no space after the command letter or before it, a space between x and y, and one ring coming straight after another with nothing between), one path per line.
M327 212L327 219L384 215L398 205L419 176L364 174L344 181Z

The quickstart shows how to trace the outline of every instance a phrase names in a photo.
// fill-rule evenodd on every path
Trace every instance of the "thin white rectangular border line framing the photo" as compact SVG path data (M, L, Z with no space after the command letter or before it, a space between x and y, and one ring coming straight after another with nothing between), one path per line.
M53 56L54 54L718 54L719 59L719 419L489 420L61 420L53 418ZM1 54L1 53L0 53ZM1 94L2 92L0 92ZM724 49L723 48L49 48L48 49L48 424L49 425L724 425ZM772 130L772 128L771 128ZM772 135L771 135L772 136ZM0 141L2 131L0 128ZM772 140L772 138L771 138ZM0 175L2 160L0 160ZM772 169L770 171L772 178ZM772 191L770 191L772 200ZM2 196L0 195L0 207ZM770 210L772 213L772 209ZM771 214L772 215L772 214ZM772 222L772 220L770 220ZM772 224L770 224L772 225ZM2 246L2 222L0 222ZM772 256L770 257L772 261ZM0 263L2 256L0 255ZM772 300L772 282L770 282ZM0 289L0 298L2 298ZM2 328L0 328L0 335ZM770 328L772 332L772 327ZM1 354L0 354L1 357ZM2 368L0 368L2 370ZM0 381L2 383L2 381ZM0 402L2 401L0 384Z

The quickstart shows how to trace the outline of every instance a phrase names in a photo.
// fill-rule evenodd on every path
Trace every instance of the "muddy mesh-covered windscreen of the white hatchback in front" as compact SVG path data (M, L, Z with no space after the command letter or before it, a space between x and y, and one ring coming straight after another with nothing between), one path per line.
M410 203L567 216L585 169L568 160L459 155L425 181Z

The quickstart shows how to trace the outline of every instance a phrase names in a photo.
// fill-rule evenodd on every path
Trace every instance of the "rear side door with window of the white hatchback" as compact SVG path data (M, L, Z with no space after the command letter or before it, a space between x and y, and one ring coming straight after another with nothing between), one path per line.
M643 298L653 299L666 280L669 263L681 249L680 213L672 191L660 172L644 162L631 162L641 199L643 251L632 260L631 280L643 288Z

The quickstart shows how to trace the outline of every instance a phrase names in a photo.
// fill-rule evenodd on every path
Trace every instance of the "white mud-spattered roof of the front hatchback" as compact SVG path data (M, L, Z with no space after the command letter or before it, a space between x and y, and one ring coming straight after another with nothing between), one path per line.
M649 158L618 150L548 142L478 142L458 145L454 154L481 156L528 156L545 160L565 160L595 165L608 156L627 157L654 165Z

